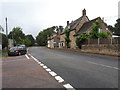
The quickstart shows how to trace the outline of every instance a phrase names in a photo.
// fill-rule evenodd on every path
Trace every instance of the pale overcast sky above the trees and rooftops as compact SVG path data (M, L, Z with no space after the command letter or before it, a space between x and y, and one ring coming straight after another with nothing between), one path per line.
M40 31L52 26L66 26L82 16L82 10L90 20L104 17L108 25L114 25L118 18L120 0L0 0L0 25L5 30L8 18L8 32L21 27L23 32L34 37ZM5 33L5 32L4 32Z

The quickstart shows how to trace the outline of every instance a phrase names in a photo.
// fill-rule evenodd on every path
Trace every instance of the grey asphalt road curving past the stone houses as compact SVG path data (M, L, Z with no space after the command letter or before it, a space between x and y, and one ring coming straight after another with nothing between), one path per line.
M74 88L118 88L118 60L112 56L32 47L29 53Z

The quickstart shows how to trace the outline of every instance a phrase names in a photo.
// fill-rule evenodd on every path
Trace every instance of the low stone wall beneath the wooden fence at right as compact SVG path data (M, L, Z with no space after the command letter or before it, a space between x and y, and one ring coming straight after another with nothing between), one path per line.
M120 44L82 45L82 52L120 56Z

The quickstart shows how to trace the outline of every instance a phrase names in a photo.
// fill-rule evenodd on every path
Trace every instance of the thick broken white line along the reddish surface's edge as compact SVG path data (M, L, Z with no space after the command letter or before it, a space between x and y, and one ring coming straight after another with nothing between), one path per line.
M49 69L47 66L45 66L43 63L41 63L40 61L38 61L35 57L33 57L31 54L28 54L29 56L31 56L43 69L45 69L51 76L53 76L58 83L63 83L64 79L60 76L57 76L57 74L55 72L53 72L51 69ZM70 84L63 84L63 87L65 87L67 90L75 90Z

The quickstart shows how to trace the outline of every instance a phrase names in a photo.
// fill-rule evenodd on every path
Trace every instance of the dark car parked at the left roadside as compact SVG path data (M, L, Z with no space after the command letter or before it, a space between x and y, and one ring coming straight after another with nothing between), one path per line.
M26 52L27 52L27 50L24 47L21 47L21 46L11 47L8 50L8 56L11 56L11 55L24 55L24 54L26 54Z

